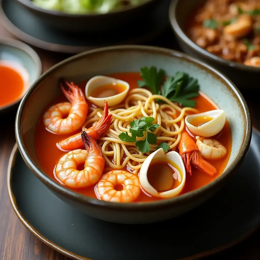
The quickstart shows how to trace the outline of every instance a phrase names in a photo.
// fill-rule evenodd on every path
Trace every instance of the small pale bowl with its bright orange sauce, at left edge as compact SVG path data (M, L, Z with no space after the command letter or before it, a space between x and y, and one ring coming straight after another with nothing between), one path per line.
M0 113L18 106L41 72L40 58L33 49L17 40L0 39Z

